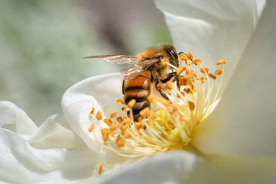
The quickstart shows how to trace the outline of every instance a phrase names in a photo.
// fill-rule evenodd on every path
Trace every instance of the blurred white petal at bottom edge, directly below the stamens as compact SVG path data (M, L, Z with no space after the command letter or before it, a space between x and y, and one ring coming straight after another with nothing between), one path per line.
M184 183L199 161L189 152L168 152L103 174L95 183Z

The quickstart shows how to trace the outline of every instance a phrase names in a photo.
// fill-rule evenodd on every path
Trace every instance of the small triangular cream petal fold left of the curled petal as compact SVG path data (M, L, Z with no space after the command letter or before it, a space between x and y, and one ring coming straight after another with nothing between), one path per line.
M86 144L72 131L61 114L50 116L29 137L28 143L31 143L32 147L40 149L86 147Z

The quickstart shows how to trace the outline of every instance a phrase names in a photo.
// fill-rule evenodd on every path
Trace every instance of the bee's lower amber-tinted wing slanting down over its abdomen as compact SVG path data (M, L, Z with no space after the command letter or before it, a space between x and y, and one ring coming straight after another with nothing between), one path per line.
M127 68L121 70L121 76L125 78L131 78L133 76L137 76L144 72L145 70L148 70L150 66L154 65L160 61L159 59L149 59L146 61L140 61L133 65L128 66Z

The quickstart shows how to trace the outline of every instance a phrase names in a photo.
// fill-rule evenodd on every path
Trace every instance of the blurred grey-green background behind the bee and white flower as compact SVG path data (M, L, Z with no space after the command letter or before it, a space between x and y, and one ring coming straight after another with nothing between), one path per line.
M1 0L0 100L39 125L61 113L71 85L125 67L82 57L135 55L159 43L172 41L153 0Z

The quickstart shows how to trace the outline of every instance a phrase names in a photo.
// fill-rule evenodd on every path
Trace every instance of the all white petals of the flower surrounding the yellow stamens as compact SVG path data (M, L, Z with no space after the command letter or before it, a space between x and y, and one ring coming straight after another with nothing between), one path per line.
M97 183L276 181L276 3L269 1L259 20L264 3L212 2L157 1L179 51L192 50L210 67L221 58L230 61L219 105L193 134L191 144L198 151L153 156L106 172ZM116 99L121 97L119 74L83 80L63 95L68 123L63 115L53 115L39 128L25 112L1 101L0 180L89 183L101 163L108 169L108 164L123 162L123 157L102 149L100 128L106 125L90 115L95 107L109 116L120 108ZM92 122L95 130L88 132Z

